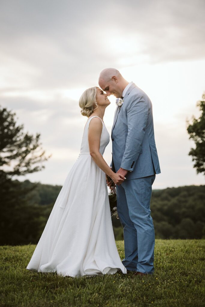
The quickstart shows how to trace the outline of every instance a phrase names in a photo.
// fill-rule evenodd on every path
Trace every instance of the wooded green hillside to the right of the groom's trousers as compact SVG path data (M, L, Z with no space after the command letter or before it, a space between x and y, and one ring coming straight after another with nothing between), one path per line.
M153 191L151 215L156 238L201 239L205 227L205 186Z

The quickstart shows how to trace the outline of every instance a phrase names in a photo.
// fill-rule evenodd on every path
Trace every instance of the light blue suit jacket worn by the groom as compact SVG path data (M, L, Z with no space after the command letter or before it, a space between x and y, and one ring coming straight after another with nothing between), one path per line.
M134 83L123 100L123 105L116 108L112 126L112 170L121 167L131 171L127 180L161 173L151 100Z

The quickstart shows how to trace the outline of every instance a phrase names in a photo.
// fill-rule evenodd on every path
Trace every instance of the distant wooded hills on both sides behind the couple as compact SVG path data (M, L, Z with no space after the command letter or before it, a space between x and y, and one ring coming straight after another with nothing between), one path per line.
M22 185L28 187L34 183L25 180ZM37 183L30 204L54 204L61 188L61 185ZM153 190L150 208L157 238L200 239L205 236L205 185ZM115 217L112 222L115 228L121 227Z

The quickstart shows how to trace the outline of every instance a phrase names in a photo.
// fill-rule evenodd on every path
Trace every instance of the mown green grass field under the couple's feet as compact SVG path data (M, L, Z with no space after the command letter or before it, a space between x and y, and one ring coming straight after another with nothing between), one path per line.
M123 241L116 241L121 259ZM155 273L61 277L26 270L34 245L2 246L0 306L204 306L205 240L156 240Z

